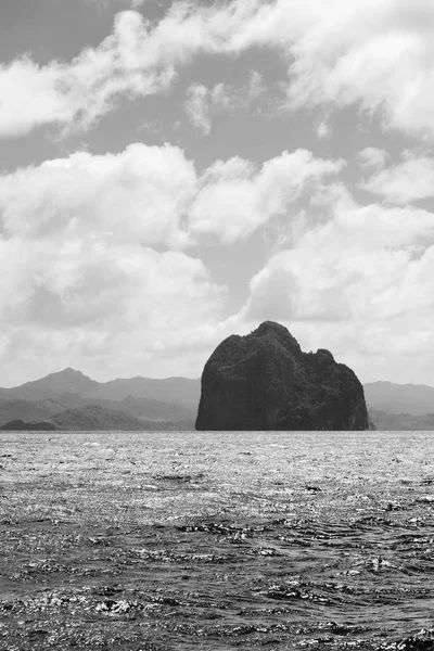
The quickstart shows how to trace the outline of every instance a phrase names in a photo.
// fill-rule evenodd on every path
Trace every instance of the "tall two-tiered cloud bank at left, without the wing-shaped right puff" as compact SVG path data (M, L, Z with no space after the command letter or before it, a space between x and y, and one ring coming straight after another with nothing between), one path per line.
M158 374L155 358L191 352L191 337L216 322L226 294L202 260L180 251L195 183L180 150L140 144L0 177L0 322L10 378L18 358L27 374L31 365L36 374L53 365L100 365L106 376L110 369Z

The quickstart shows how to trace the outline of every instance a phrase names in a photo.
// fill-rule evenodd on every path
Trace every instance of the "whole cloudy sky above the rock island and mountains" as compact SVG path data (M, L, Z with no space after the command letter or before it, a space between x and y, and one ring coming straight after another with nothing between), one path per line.
M432 0L2 0L0 385L264 320L434 385Z

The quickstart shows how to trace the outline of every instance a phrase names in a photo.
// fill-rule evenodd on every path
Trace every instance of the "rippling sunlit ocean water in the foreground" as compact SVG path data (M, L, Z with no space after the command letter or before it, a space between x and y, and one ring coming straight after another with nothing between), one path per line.
M0 434L0 649L434 649L434 433Z

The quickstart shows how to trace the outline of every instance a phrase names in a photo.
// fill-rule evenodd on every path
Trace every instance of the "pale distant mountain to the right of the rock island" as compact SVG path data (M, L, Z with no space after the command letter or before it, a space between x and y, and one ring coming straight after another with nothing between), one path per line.
M425 384L372 382L363 385L368 408L385 413L424 416L434 413L434 387ZM375 422L374 417L372 420ZM375 425L379 427L378 423ZM380 429L380 427L379 427Z

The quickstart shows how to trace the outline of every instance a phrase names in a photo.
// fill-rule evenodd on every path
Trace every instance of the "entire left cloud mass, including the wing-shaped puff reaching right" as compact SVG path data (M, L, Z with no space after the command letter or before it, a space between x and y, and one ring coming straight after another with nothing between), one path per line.
M0 176L2 368L14 376L18 350L39 372L50 355L113 375L197 372L227 288L190 247L247 237L342 165L301 150L200 174L179 148L136 143Z

